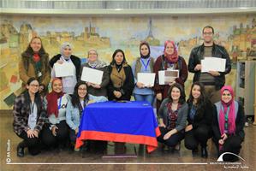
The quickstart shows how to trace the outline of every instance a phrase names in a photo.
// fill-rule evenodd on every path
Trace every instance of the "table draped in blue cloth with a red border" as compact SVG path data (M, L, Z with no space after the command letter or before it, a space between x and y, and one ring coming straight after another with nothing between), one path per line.
M152 106L128 101L91 103L84 109L77 134L76 148L86 139L146 144L150 153L158 148L160 135Z

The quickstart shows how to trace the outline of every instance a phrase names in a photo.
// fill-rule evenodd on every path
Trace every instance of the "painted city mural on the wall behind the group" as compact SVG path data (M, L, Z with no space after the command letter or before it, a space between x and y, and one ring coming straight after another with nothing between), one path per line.
M74 45L73 54L86 62L86 52L98 50L99 57L111 61L114 50L122 49L129 63L139 56L139 44L146 40L153 57L163 53L164 41L174 40L179 54L186 59L190 50L202 43L201 30L215 28L215 42L229 51L233 69L227 84L235 86L235 62L256 56L256 15L179 15L179 16L1 16L0 34L0 109L11 109L21 93L18 61L33 36L43 40L45 50L54 56L60 44ZM193 74L186 82L188 93Z

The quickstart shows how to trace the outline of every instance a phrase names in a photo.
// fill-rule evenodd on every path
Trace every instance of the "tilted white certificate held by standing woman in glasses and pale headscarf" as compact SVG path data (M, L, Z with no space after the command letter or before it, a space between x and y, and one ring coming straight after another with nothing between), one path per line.
M80 80L83 80L92 84L100 85L102 81L102 77L103 77L103 71L84 67Z

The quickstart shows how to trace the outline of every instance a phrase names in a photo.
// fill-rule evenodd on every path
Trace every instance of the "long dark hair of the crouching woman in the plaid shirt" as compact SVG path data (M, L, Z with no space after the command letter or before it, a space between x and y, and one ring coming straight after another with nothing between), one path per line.
M36 80L36 81L39 82L39 80L37 80L36 78L31 77L31 78L29 78L29 79L27 80L27 85L30 85L34 80ZM30 96L29 96L28 90L24 91L23 94L24 94L24 97L25 97L25 104L26 104L26 105L27 105L27 104L30 104L30 103L31 103L31 98L30 98ZM41 98L41 96L40 96L40 94L39 94L39 91L37 91L37 92L35 93L34 103L36 103L39 107L42 106L42 98Z

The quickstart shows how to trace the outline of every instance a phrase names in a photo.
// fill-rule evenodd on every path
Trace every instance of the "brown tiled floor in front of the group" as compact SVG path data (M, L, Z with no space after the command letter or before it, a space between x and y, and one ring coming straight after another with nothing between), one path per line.
M0 114L1 171L69 171L72 169L75 169L74 171L256 170L256 126L252 124L245 128L246 139L240 154L245 162L240 161L241 164L230 165L217 162L216 151L211 140L208 141L209 157L207 159L201 158L199 154L192 156L191 151L185 149L183 142L179 152L170 153L158 149L152 154L147 154L144 148L139 148L138 144L127 144L128 154L134 154L134 146L136 147L138 153L136 158L104 159L102 155L88 153L85 153L84 158L82 158L80 152L70 150L43 151L39 156L30 156L26 150L26 156L19 158L16 156L16 145L21 139L13 132L12 120L10 112ZM111 144L108 145L108 151L109 153L113 151Z

